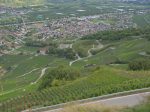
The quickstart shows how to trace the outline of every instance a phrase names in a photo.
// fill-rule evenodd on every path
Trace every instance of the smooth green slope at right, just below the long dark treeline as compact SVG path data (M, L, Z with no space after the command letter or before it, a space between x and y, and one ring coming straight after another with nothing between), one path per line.
M121 40L119 42L112 42L113 46L109 47L97 55L87 59L81 60L74 64L74 66L84 66L85 64L109 64L120 59L122 61L130 61L136 58L145 58L139 53L147 51L150 47L150 41L146 39L131 39ZM148 58L148 57L147 57Z

